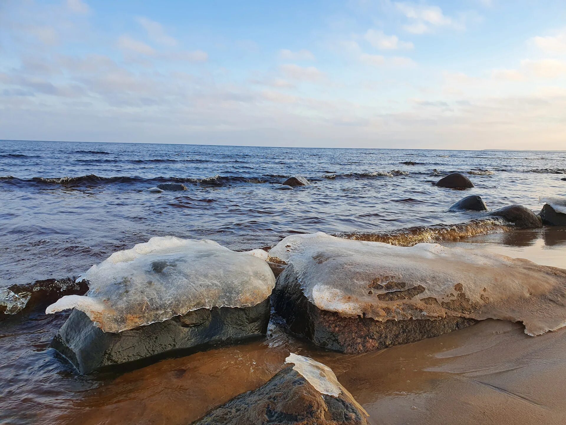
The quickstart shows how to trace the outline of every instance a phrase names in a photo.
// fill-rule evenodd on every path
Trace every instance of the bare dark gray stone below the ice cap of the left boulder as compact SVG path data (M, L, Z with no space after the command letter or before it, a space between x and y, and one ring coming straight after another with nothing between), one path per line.
M201 308L164 322L112 333L102 332L82 311L74 310L53 339L52 347L80 373L89 373L259 337L267 332L269 313L269 299L266 299L246 308Z

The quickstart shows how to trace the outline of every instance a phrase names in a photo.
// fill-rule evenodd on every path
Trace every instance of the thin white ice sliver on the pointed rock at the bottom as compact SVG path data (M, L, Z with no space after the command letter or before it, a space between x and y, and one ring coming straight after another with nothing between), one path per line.
M311 358L305 356L299 356L292 352L289 353L288 358L285 359L285 363L294 364L293 369L297 371L303 378L305 378L309 384L314 386L314 388L320 394L327 394L328 396L338 397L340 394L345 394L350 398L350 401L358 407L366 416L369 416L365 409L354 397L345 389L336 378L336 375L331 368L325 364L316 362Z

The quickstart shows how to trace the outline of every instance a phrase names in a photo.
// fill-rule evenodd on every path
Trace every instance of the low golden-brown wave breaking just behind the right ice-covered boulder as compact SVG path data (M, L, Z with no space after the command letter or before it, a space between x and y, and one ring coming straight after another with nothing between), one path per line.
M383 242L390 245L412 247L420 243L434 243L443 240L458 240L464 237L502 233L514 227L504 219L475 219L467 223L436 224L434 226L416 226L401 230L380 233L338 233L335 236L345 239Z

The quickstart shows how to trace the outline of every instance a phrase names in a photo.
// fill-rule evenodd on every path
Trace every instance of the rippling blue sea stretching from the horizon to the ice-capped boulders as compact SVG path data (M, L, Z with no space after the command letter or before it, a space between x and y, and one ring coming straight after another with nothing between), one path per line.
M414 165L410 165L414 163ZM451 171L474 189L438 188ZM381 232L461 223L488 207L566 193L566 152L268 148L0 141L0 287L62 278L152 236L231 249L291 232ZM277 190L291 175L310 186ZM149 193L161 182L185 192Z

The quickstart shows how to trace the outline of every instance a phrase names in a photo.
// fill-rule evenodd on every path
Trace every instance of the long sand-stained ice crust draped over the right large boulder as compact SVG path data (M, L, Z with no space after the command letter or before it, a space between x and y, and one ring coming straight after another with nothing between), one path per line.
M522 258L319 232L286 237L269 259L292 264L306 298L344 317L496 318L523 322L529 335L566 325L566 270Z

